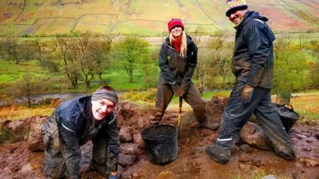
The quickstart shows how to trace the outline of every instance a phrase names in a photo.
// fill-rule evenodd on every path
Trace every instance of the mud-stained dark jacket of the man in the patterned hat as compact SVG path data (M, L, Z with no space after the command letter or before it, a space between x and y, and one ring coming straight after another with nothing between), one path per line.
M232 71L237 81L250 86L272 88L274 70L274 33L267 25L268 18L247 11L237 25Z

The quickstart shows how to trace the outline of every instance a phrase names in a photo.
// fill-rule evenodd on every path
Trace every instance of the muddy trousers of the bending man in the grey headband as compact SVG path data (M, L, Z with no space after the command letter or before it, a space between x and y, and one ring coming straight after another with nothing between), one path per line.
M67 162L64 156L68 156L68 151L61 143L57 122L55 116L52 115L48 118L47 123L43 127L44 147L45 147L45 162L43 163L43 169L46 178L81 178L80 173L69 173L67 169ZM91 139L93 143L92 159L90 166L94 166L97 171L103 173L110 173L108 168L108 142L104 137L103 132L98 132L95 137ZM74 171L78 171L80 168L73 168Z

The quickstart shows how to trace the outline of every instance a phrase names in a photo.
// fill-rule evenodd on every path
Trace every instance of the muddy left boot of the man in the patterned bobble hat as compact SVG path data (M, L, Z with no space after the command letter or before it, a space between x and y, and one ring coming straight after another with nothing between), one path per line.
M209 158L220 164L227 164L230 160L230 150L218 146L207 146L205 150Z

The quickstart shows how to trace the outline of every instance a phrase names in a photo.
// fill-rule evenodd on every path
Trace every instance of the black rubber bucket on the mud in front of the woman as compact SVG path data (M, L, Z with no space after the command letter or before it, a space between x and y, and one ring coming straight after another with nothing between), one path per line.
M174 125L152 125L142 130L147 158L152 163L164 165L178 156L178 132Z

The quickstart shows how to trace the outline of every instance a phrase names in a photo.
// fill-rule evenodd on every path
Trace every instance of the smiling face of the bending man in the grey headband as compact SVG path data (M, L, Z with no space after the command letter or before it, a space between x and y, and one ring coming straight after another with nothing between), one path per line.
M103 120L114 108L114 103L108 99L92 100L92 113L96 120Z

